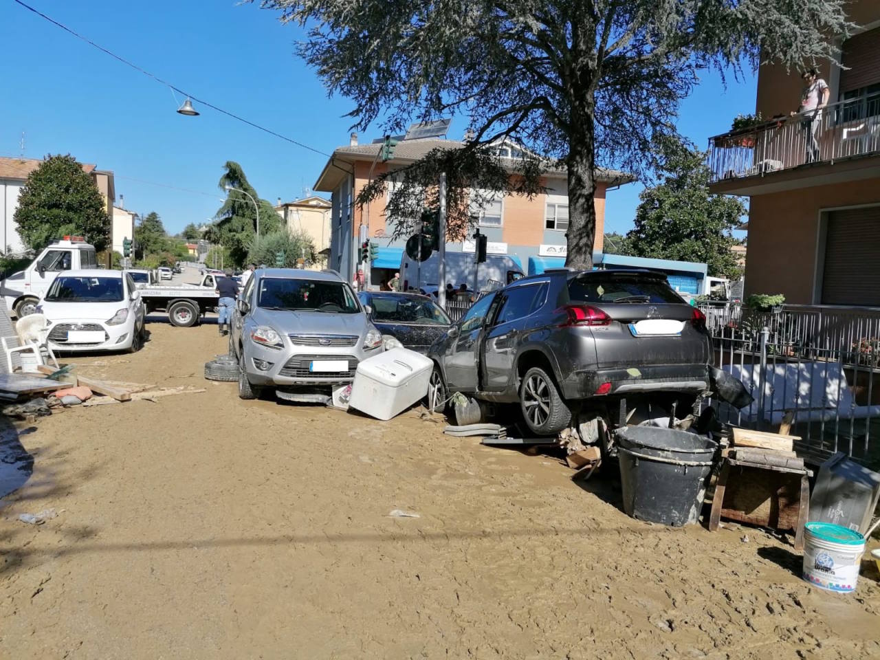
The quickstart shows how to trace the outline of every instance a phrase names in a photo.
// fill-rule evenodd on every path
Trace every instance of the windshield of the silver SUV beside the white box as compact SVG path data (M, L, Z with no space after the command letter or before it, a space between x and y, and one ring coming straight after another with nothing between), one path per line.
M355 295L344 282L263 277L259 291L257 305L269 310L345 314L361 311Z

